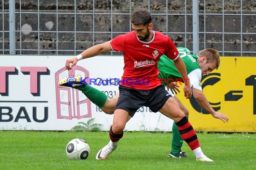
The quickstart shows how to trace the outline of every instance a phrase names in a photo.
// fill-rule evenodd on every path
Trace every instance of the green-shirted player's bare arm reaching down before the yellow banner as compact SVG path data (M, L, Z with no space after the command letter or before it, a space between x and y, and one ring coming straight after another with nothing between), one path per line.
M224 123L229 121L229 118L226 115L213 110L213 108L209 104L206 96L203 94L203 92L201 90L192 88L192 91L193 91L193 96L194 96L195 100L199 103L199 105L201 107L203 107L205 110L210 112L212 114L212 117L214 117L216 119L221 119Z

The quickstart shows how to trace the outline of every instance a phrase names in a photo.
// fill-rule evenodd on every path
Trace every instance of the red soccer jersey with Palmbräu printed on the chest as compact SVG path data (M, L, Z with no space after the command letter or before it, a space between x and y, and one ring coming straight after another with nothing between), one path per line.
M161 85L158 79L157 62L161 55L177 59L179 52L172 40L157 31L149 42L140 41L135 31L114 38L110 45L112 50L124 53L124 74L120 85L134 89L153 89Z

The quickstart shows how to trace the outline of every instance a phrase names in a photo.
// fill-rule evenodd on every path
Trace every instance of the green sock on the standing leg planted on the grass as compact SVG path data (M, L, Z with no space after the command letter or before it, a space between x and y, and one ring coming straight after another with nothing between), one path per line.
M172 125L172 147L171 147L171 152L173 155L177 155L180 153L182 144L183 144L183 139L181 137L181 134L178 130L176 123L173 122L173 125Z

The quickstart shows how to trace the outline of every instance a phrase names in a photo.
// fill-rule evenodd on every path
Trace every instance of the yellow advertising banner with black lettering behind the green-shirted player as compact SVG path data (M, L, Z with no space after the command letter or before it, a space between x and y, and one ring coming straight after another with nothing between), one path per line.
M221 57L219 69L203 76L201 85L212 108L230 121L213 118L181 92L177 97L189 110L196 131L256 132L256 57Z

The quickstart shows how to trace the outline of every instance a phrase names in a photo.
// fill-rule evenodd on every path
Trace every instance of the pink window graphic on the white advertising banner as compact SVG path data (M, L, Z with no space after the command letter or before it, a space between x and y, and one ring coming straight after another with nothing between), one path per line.
M91 118L91 101L78 89L64 87L58 85L59 80L66 76L81 76L88 77L88 70L74 66L72 70L67 71L66 68L61 68L55 73L56 81L56 104L57 104L57 119L82 119ZM89 84L89 82L87 82Z

